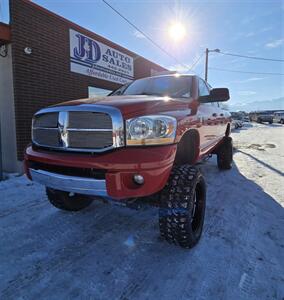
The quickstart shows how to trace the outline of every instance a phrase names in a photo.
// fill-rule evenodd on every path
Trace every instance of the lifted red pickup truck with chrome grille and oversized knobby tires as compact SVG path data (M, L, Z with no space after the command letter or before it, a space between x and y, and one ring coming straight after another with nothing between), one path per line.
M185 248L200 239L206 186L196 163L217 154L232 165L230 113L194 75L143 78L107 97L64 102L37 112L25 151L29 179L55 207L77 211L96 197L156 199L161 236Z

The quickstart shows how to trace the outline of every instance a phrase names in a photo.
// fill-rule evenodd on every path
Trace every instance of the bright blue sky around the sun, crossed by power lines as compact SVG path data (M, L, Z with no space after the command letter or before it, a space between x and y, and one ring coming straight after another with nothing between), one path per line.
M86 27L158 64L184 72L172 58L152 45L101 0L35 0L35 3ZM9 21L8 1L0 0L0 17ZM113 1L109 3L177 59L192 65L205 48L284 59L284 2L281 0ZM168 27L174 20L187 30L174 43ZM284 73L284 63L210 53L209 67ZM204 77L204 58L194 69ZM229 87L231 104L284 96L284 76L209 70L209 83Z

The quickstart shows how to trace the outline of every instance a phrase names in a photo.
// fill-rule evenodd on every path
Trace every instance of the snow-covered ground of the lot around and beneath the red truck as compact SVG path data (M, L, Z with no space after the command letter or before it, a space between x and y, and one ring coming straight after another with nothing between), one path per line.
M1 299L283 299L284 127L233 134L235 165L201 166L202 239L159 239L157 209L93 203L68 213L22 177L0 183Z

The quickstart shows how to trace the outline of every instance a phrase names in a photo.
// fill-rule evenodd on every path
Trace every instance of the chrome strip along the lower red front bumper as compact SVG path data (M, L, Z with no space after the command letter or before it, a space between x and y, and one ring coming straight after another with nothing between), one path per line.
M85 195L108 196L106 181L30 169L32 180L47 187Z

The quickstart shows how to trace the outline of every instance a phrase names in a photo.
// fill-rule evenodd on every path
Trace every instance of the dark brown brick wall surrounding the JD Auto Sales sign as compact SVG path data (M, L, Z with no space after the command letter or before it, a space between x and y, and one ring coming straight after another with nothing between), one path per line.
M115 89L119 85L70 71L69 29L101 41L135 58L134 76L165 70L101 36L71 23L27 0L10 0L13 77L18 159L30 142L33 114L42 107L86 98L88 86ZM32 54L24 48L32 48Z

